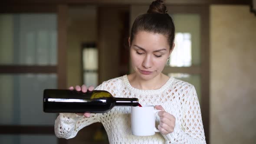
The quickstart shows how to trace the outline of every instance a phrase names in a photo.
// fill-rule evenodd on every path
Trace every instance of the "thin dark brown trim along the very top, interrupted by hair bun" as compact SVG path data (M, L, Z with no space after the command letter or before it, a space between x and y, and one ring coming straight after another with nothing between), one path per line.
M153 0L2 0L1 4L150 4ZM166 4L250 4L251 0L166 0Z

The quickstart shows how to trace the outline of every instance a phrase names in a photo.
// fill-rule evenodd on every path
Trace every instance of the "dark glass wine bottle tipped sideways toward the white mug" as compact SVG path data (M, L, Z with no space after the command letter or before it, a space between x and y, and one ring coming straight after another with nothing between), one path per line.
M45 89L43 111L50 113L105 113L114 106L138 106L138 98L115 98L107 91L77 92L66 89Z

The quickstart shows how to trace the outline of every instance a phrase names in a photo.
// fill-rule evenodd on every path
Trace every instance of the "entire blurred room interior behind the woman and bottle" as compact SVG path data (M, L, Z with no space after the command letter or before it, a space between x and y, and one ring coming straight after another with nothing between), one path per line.
M132 72L128 36L151 0L2 0L0 144L108 144L100 123L54 134L43 89ZM164 73L195 85L207 144L256 143L253 0L166 0L176 26Z

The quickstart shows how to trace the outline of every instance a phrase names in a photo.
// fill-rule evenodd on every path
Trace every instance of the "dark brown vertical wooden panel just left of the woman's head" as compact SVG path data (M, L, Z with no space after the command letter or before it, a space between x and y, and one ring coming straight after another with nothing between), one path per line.
M99 7L99 83L119 75L119 39L121 33L118 7ZM106 13L107 12L107 13Z

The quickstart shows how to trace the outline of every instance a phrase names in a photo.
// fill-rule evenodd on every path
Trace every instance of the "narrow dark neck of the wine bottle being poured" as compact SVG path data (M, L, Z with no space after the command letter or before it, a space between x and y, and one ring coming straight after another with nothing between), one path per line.
M115 98L115 106L138 106L138 98Z

